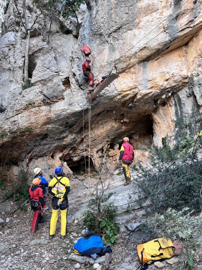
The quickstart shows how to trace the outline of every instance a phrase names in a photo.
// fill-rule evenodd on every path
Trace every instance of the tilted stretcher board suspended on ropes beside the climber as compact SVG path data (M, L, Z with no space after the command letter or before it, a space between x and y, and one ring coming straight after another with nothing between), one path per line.
M102 79L95 85L95 90L88 91L88 99L93 100L101 91L103 91L110 83L117 79L119 75L117 73L111 73L106 79Z

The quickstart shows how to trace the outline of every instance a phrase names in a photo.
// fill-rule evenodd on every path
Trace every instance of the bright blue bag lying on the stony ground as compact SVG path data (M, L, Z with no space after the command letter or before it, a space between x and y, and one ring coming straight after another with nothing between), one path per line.
M83 256L90 256L95 253L99 256L103 256L107 252L112 252L110 246L103 246L103 241L98 235L92 235L88 239L84 239L84 237L81 237L74 245L74 249L75 254Z

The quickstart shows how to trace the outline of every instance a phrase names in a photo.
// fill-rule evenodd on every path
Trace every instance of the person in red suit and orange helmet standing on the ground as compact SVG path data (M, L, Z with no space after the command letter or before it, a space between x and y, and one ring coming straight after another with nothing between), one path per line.
M29 200L31 208L34 210L34 216L30 228L32 230L32 234L34 234L38 232L38 222L41 219L42 208L46 208L43 187L41 186L40 178L35 178L32 181L32 187L29 188Z

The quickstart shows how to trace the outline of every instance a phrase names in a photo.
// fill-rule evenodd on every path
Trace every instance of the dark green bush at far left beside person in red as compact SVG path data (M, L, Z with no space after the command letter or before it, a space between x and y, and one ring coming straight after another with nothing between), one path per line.
M23 170L20 170L16 183L12 184L10 189L6 191L3 196L2 202L6 199L12 198L13 201L23 202L29 198L29 187L30 185L27 184L28 181L31 181L32 175L26 174Z

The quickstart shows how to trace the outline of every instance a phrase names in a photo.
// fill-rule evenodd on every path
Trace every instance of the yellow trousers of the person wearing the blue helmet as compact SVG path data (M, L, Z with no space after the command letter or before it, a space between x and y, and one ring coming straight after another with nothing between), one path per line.
M52 209L52 216L51 216L51 221L50 221L50 229L49 229L49 234L54 235L56 226L57 226L57 218L58 218L58 212L59 209ZM67 234L67 209L61 210L60 209L60 215L61 215L61 235L66 235Z

